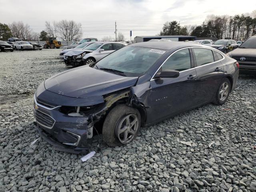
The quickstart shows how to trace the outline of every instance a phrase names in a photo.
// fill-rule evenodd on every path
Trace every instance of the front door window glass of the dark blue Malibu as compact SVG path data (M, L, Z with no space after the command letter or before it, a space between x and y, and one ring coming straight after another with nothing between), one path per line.
M162 66L162 70L184 71L191 68L189 49L182 49L174 53Z

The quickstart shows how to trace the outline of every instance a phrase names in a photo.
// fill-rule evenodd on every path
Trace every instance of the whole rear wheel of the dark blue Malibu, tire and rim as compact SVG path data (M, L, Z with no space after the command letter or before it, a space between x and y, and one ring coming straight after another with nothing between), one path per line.
M223 78L222 82L220 83L220 86L218 87L215 100L213 103L216 105L224 104L228 100L230 90L230 81L228 80L228 78Z

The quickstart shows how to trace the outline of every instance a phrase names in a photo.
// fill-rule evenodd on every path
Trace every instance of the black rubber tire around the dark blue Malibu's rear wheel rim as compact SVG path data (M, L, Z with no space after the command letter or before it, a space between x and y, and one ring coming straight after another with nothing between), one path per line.
M224 92L224 90L222 89L223 88L223 85L226 86L228 85L228 90L226 92L226 98L221 100L221 90L222 92ZM220 86L218 87L218 90L215 94L215 98L214 98L214 101L212 102L213 104L216 104L216 105L223 105L227 100L228 100L228 96L230 94L230 90L231 90L231 84L230 84L230 80L226 77L224 77L220 83Z

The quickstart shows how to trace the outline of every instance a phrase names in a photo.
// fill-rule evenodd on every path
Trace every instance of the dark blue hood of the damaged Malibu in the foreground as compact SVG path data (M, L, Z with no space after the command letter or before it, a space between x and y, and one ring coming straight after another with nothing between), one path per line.
M45 89L73 98L103 96L136 84L138 77L125 77L89 66L57 74L44 82Z

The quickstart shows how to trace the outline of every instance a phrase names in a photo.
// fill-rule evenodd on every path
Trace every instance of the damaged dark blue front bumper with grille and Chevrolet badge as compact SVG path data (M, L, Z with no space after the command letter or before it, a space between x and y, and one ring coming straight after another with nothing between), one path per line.
M56 150L79 154L88 152L87 138L92 136L93 125L88 117L68 116L34 96L34 116L38 133ZM89 134L89 136L88 136Z

